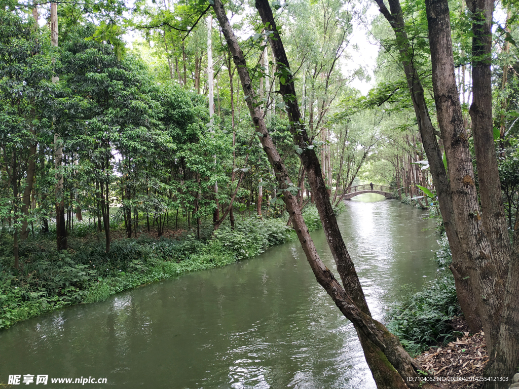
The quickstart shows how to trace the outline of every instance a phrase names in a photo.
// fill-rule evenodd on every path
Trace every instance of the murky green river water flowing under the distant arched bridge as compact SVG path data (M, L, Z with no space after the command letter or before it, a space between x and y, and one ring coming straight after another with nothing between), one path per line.
M402 285L434 277L438 247L425 212L380 198L360 195L338 217L379 320ZM323 231L312 239L335 269ZM375 388L353 326L298 242L0 331L0 383L10 374L48 375L52 389ZM51 383L81 377L107 383Z

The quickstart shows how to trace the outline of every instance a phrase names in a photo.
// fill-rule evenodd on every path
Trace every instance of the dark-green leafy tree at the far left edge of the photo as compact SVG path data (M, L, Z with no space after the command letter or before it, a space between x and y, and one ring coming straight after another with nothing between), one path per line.
M0 13L0 149L2 150L2 219L13 234L14 266L19 267L18 238L28 234L35 174L36 144L50 124L49 102L56 92L49 42L39 39L34 21ZM50 84L50 85L49 85Z

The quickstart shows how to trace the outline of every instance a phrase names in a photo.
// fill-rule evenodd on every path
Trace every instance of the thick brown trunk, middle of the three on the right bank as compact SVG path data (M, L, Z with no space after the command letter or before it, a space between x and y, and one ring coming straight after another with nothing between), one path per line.
M491 20L491 8L487 6L486 17ZM495 186L494 177L497 174L497 159L495 155L494 139L490 123L483 124L491 112L491 104L487 99L490 96L490 74L474 73L474 103L473 113L474 144L476 146L476 163L480 182L482 212L479 209L478 196L474 182L472 158L470 155L468 134L463 123L459 93L454 74L454 59L450 33L450 17L447 0L426 0L427 19L431 47L433 72L434 99L436 102L437 117L442 131L445 152L447 155L448 173L453 190L455 225L462 249L470 253L468 260L463 262L468 274L468 284L473 298L479 304L479 314L483 321L485 339L490 355L487 365L487 375L490 377L513 376L519 350L519 317L517 317L517 296L512 297L516 281L507 281L507 275L514 274L513 265L509 269L511 247L508 236L503 243L501 229L506 231L506 219L501 202L501 188ZM483 15L479 13L479 15ZM483 19L484 20L484 19ZM484 23L475 23L474 30L482 29ZM487 33L490 34L488 28ZM474 33L474 39L477 37ZM489 45L489 41L488 41ZM489 48L487 53L489 53ZM484 57L480 53L480 60ZM482 65L483 66L483 65ZM481 73L485 73L481 70ZM488 85L485 77L488 76ZM476 82L476 78L480 79ZM477 87L476 87L477 85ZM485 90L486 89L486 90ZM488 93L488 96L485 94ZM479 95L479 99L476 99ZM485 106L486 113L477 114L481 105ZM491 100L490 100L491 103ZM476 108L473 109L474 104ZM475 113L475 114L474 114ZM491 115L491 114L490 114ZM480 121L475 129L476 122ZM490 126L488 129L487 126ZM490 134L490 137L486 133ZM479 139L476 139L479 137ZM479 151L477 149L479 148ZM493 156L490 157L490 155ZM482 171L480 171L480 166ZM480 176L481 175L481 176ZM499 177L497 177L499 184ZM484 185L481 185L484 181ZM485 194L484 194L485 192ZM484 200L486 198L486 200ZM499 200L496 200L499 199ZM499 210L499 204L501 208ZM488 217L488 213L492 217ZM510 270L510 271L509 271ZM509 283L508 295L505 283ZM508 301L507 308L504 307ZM512 311L515 309L515 313ZM508 313L507 313L508 312ZM509 314L510 313L510 314ZM507 323L503 322L508 321ZM515 320L515 322L514 322ZM498 356L499 354L499 356ZM497 361L500 362L497 362ZM486 387L504 388L508 382L487 382Z

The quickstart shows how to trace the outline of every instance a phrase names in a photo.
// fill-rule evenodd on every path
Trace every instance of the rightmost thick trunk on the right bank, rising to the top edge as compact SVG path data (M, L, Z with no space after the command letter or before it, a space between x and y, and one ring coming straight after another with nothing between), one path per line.
M472 13L472 105L469 114L472 119L474 151L476 155L477 180L481 199L483 226L489 237L495 274L484 274L482 282L488 277L496 280L496 293L491 300L495 309L502 314L489 317L498 328L497 339L490 345L497 354L490 352L486 373L490 377L506 376L511 378L519 366L519 244L517 229L514 233L514 247L510 247L506 216L501 196L501 184L493 135L492 85L491 85L491 46L494 2L491 0L467 0ZM506 75L503 74L503 77ZM503 82L506 82L503 80ZM513 250L513 251L512 251ZM504 283L504 285L503 285ZM485 284L484 284L485 285ZM485 301L486 302L486 301ZM503 304L503 305L500 305ZM490 314L490 312L489 312ZM487 341L488 344L488 341ZM495 359L493 358L495 354ZM507 387L502 382L487 383L488 388Z

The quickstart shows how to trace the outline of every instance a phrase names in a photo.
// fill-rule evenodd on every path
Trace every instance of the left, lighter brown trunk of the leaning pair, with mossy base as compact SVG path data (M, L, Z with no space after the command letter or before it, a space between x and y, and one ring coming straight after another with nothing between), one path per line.
M368 363L371 362L370 367L375 370L374 378L378 380L377 386L384 388L418 388L430 386L429 384L422 386L420 383L414 381L408 381L408 383L404 381L404 378L407 379L407 377L418 376L417 370L420 369L420 367L415 360L405 352L398 338L392 335L383 325L375 321L368 314L369 311L367 310L365 299L360 301L360 307L357 305L356 300L359 299L359 294L362 294L362 288L360 287L360 283L358 283L357 275L354 274L354 278L357 279L358 285L350 285L349 282L351 280L345 278L346 282L343 281L343 284L347 287L343 288L343 286L337 282L333 273L324 266L304 223L301 207L298 206L296 197L289 190L291 184L290 177L272 138L268 134L263 119L263 112L260 108L260 104L256 101L256 95L251 86L247 63L230 27L221 1L215 0L213 8L225 39L227 40L227 45L233 53L243 92L245 96L247 96L245 102L247 102L249 107L255 131L260 134L263 149L274 168L279 188L283 192L283 201L287 211L291 215L299 242L303 247L317 281L332 297L340 311L353 323L360 334L361 343L363 345L367 344L366 356L369 358ZM312 170L314 169L320 170L320 166L312 166ZM322 183L319 185L322 185ZM324 191L325 189L326 188L324 188ZM321 196L320 193L319 196ZM348 275L344 272L345 270L346 269L342 268L341 276ZM352 267L348 270L354 272L354 268ZM364 311L367 311L367 313Z

